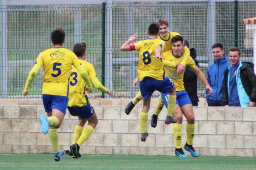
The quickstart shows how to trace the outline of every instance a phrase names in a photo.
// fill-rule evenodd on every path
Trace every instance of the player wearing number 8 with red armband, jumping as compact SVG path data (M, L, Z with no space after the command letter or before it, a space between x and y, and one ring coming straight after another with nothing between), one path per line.
M164 77L164 70L161 57L161 49L164 42L158 39L159 24L152 23L148 27L149 39L138 41L134 44L130 44L132 41L138 38L138 33L130 36L122 46L122 51L138 50L138 76L139 86L143 101L142 110L140 113L140 130L141 141L145 142L148 136L147 132L147 120L148 111L150 109L150 99L155 90L162 93L168 93L168 107L167 117L170 122L175 123L177 120L171 115L175 106L176 92L175 86L171 79Z

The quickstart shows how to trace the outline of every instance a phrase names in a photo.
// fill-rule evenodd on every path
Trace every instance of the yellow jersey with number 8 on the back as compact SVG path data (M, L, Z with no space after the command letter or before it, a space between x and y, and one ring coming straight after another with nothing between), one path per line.
M135 49L139 51L138 75L142 81L145 77L152 77L156 80L163 79L163 64L159 58L153 58L158 46L164 42L159 39L147 39L134 43Z

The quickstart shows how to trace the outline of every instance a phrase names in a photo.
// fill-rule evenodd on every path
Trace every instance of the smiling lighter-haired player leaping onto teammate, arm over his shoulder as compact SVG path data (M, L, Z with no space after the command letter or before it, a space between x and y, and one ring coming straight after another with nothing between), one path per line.
M169 23L166 19L164 18L160 18L157 23L160 25L160 29L159 29L159 36L158 39L162 40L164 42L164 45L162 47L162 51L168 51L171 50L171 39L172 37L174 37L175 35L180 35L178 32L172 32L169 31ZM184 57L182 59L182 62L177 66L177 74L180 75L181 73L184 72L185 68L185 64L188 60L188 58L190 57L190 49L187 46L184 46L183 48L183 52L184 52ZM134 80L133 82L133 88L135 88L135 85L137 83L137 79ZM136 95L136 97L133 98L132 101L130 101L125 109L125 113L128 115L131 110L133 109L133 107L141 100L141 93L138 92L138 94ZM166 122L168 124L168 122Z

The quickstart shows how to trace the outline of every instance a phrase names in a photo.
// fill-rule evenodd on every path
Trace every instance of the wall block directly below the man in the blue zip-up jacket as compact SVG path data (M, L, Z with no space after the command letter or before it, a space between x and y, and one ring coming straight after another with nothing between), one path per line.
M224 107L208 107L208 121L224 121L225 108Z

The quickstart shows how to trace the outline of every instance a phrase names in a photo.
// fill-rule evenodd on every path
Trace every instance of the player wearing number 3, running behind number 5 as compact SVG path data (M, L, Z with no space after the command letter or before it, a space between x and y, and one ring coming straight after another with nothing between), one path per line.
M90 80L93 82L95 87L102 92L107 93L111 97L113 97L113 92L106 89L96 77L96 73L94 70L94 66L85 61L86 58L86 44L85 43L77 43L73 47L73 52L79 59L80 64L87 71ZM82 77L77 73L75 67L72 66L72 72L70 75L70 86L69 86L69 101L67 109L72 116L77 116L79 121L75 126L73 142L70 146L70 156L73 158L78 158L81 156L79 153L79 148L87 139L92 135L98 120L96 116L96 112L93 106L90 104L88 97L86 95L87 84L82 80ZM83 129L86 121L88 124Z

